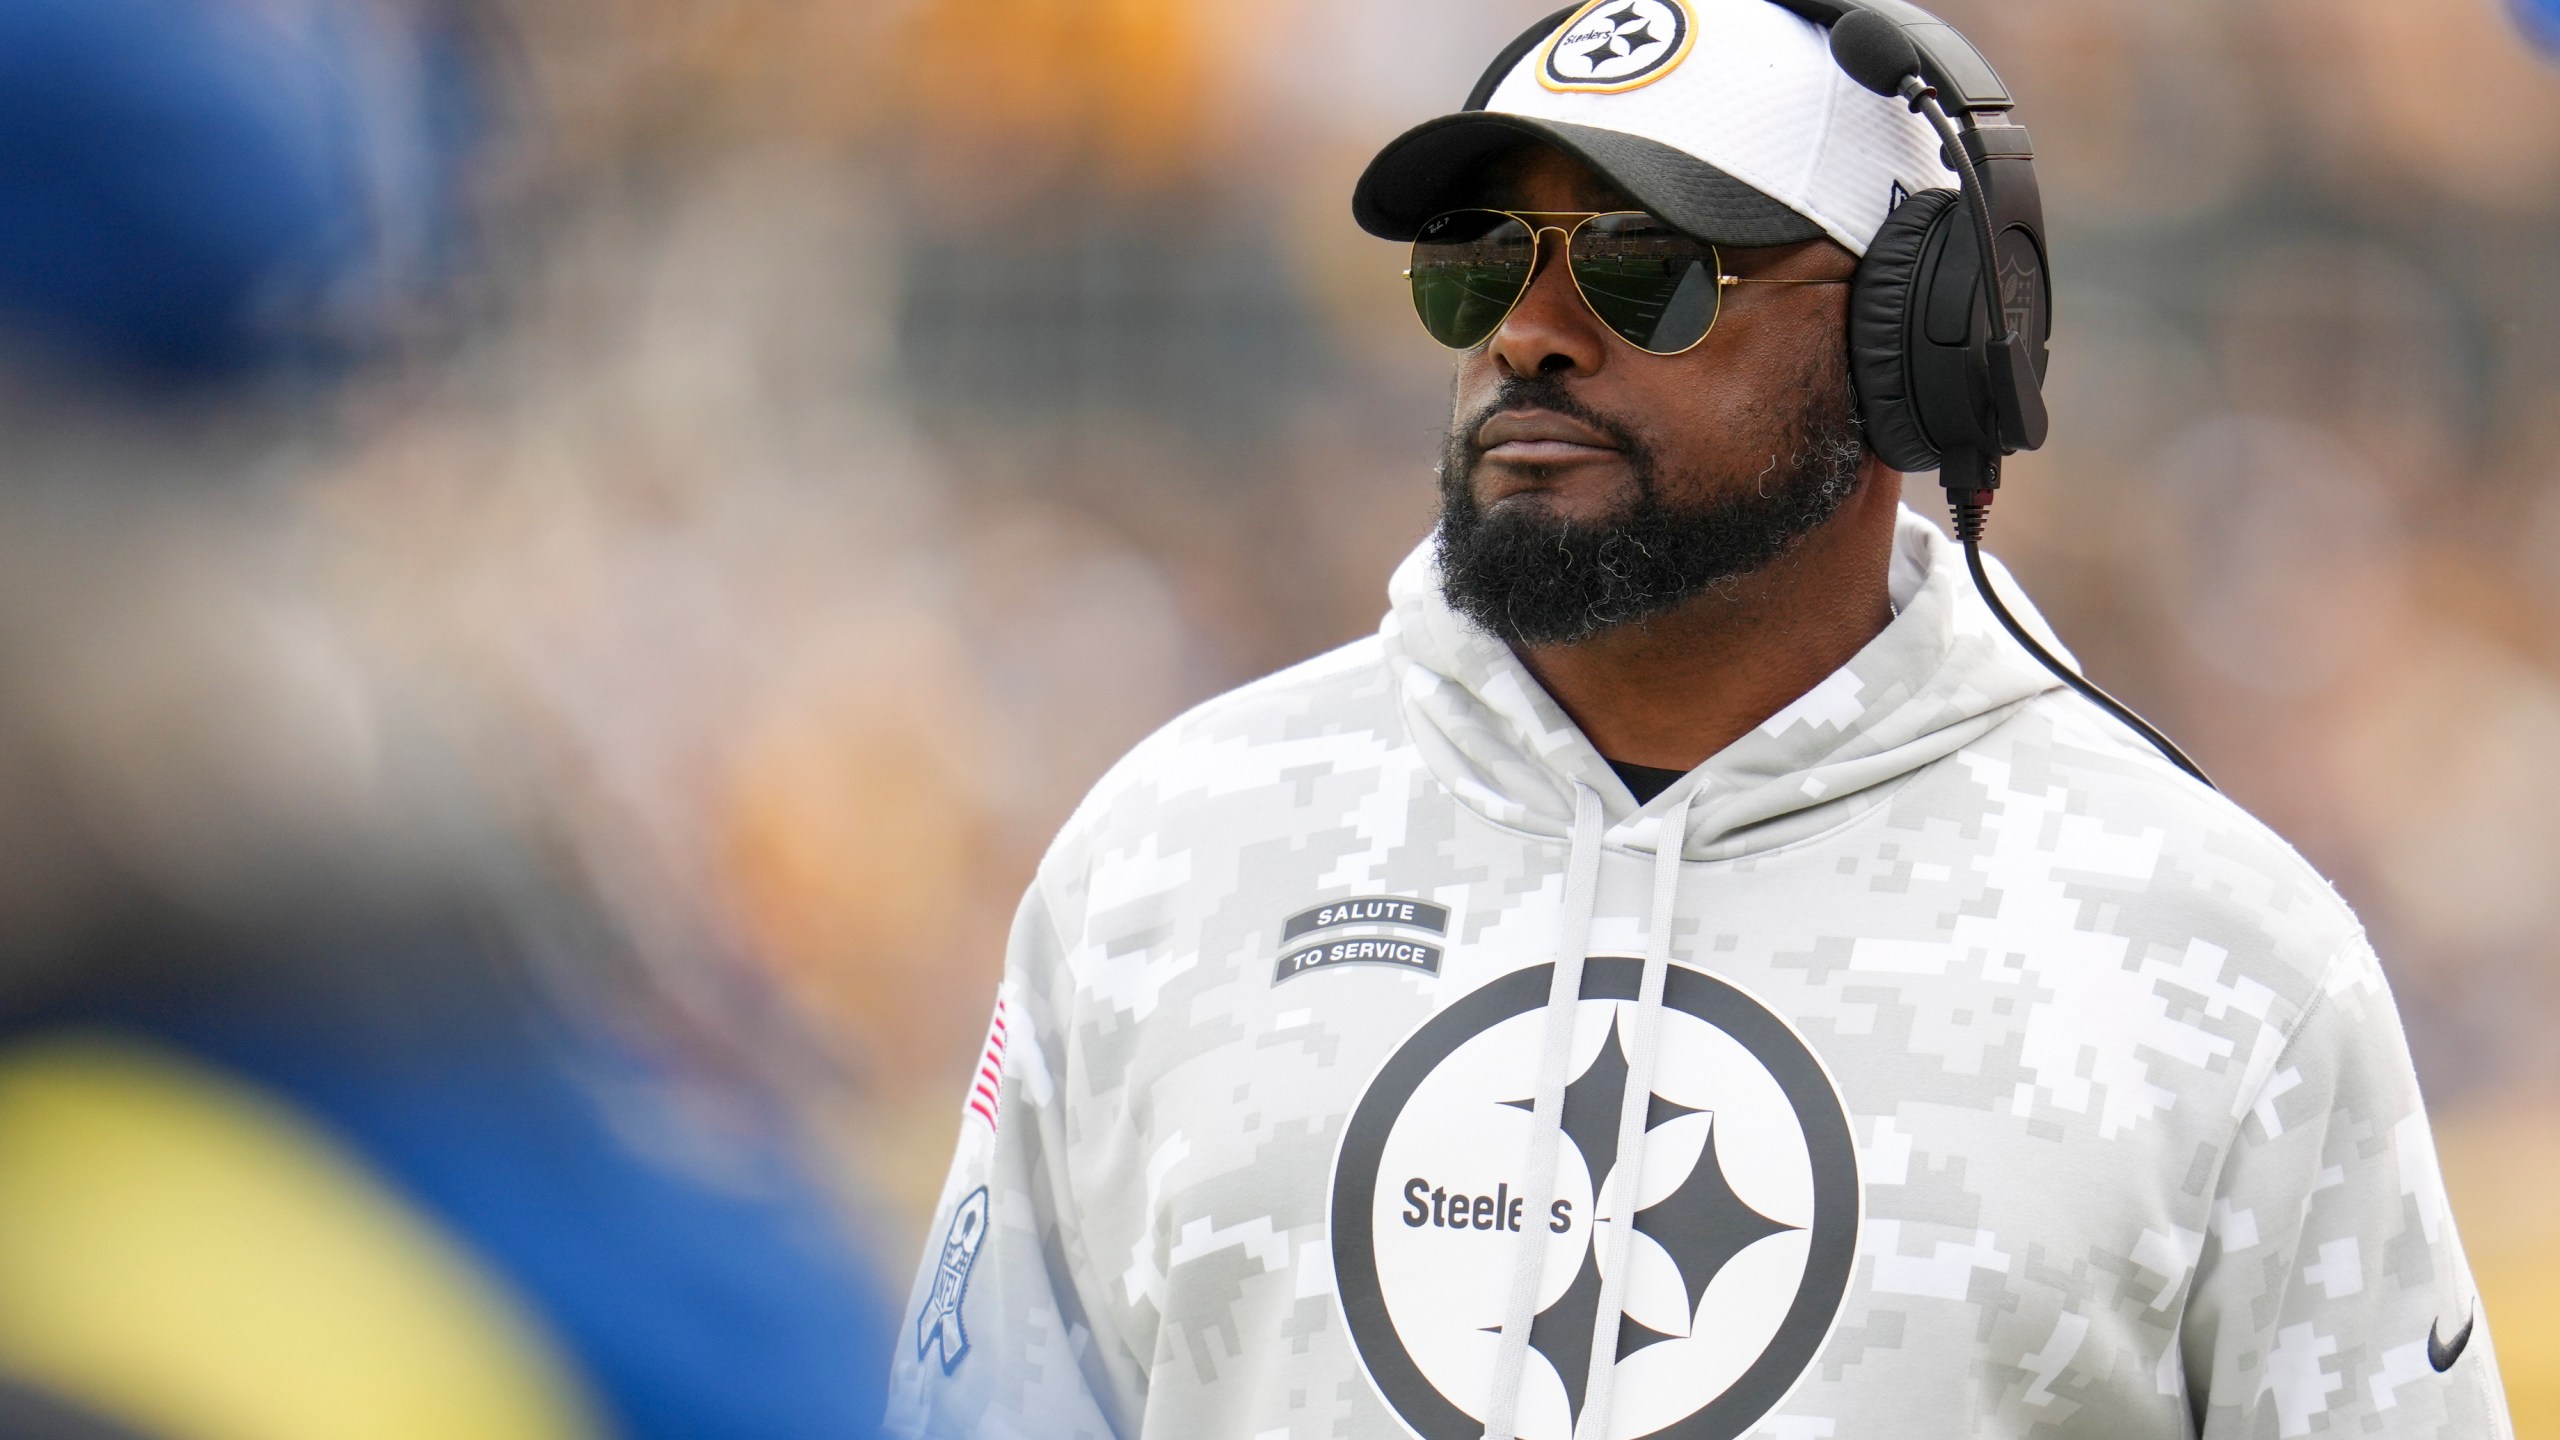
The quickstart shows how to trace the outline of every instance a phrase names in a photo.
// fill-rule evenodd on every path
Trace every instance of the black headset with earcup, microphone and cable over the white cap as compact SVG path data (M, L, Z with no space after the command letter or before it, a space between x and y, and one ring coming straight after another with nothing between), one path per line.
M1866 446L1900 471L1938 471L1974 587L2028 653L2209 787L2168 735L2045 651L2002 605L1981 564L1999 461L2045 443L2053 333L2045 202L2035 146L2010 120L2010 87L1974 41L1905 0L1769 3L1830 31L1830 56L1851 79L1925 115L1961 179L1961 190L1923 190L1894 205L1859 261L1848 374ZM1510 69L1582 10L1567 5L1510 41L1464 108L1492 102Z

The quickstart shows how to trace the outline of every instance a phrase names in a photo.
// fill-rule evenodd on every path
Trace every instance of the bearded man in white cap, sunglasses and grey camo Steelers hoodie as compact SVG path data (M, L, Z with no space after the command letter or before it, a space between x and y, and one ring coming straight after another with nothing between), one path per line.
M2353 915L1861 446L1841 282L1948 184L1761 0L1370 167L1472 346L1439 536L1057 838L893 1432L2506 1430Z

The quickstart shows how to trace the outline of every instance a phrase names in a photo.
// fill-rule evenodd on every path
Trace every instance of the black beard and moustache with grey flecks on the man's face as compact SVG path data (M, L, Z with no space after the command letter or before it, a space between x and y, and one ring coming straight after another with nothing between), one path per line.
M1838 515L1866 459L1846 359L1823 369L1805 377L1784 448L1766 471L1682 477L1679 492L1718 497L1697 507L1664 502L1644 436L1590 410L1554 377L1503 382L1492 402L1449 430L1441 456L1439 566L1449 607L1513 646L1572 646L1784 556ZM1580 523L1544 502L1485 515L1469 484L1472 436L1495 413L1518 407L1572 415L1608 436L1626 454L1633 500Z

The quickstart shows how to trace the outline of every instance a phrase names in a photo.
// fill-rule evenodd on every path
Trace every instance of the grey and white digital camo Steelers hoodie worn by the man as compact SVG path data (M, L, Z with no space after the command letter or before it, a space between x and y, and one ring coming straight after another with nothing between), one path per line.
M2506 1435L2353 915L2248 815L2053 687L1915 515L1894 594L1900 620L1846 669L1646 807L1439 605L1428 551L1398 571L1377 638L1139 746L1021 904L1001 1122L960 1127L932 1230L988 1189L955 1327L927 1330L965 1330L968 1350L945 1368L947 1348L901 1348L891 1432L1464 1425L1434 1420L1431 1394L1480 1417L1467 1386L1492 1340L1467 1276L1508 1273L1531 1220L1513 1104L1528 1071L1482 997L1554 963L1590 787L1603 958L1646 953L1659 817L1697 794L1669 920L1674 979L1695 979L1664 1007L1610 1435L1718 1435L1746 1409L1738 1432L1766 1440ZM1293 917L1354 899L1436 907L1439 930L1321 938L1428 943L1436 974L1275 974L1316 938L1288 938ZM1608 992L1626 974L1585 974L1585 1092L1610 1084L1638 1015ZM1480 1020L1482 1038L1421 1045ZM1812 1189L1825 1102L1769 1025L1812 1056L1853 1150L1828 1304L1805 1279L1830 1253ZM1398 1074L1426 1099L1380 1102L1390 1120L1441 1109L1380 1143L1362 1240L1334 1225L1331 1186L1354 1112ZM1590 1215L1613 1158L1587 1115L1567 1092L1556 1197L1582 1209L1549 1232L1549 1343L1521 1389L1541 1440L1580 1404L1574 1286L1615 1222ZM942 1250L914 1317L955 1289ZM1772 1381L1802 1294L1810 1361ZM1380 1309L1428 1353L1431 1394L1382 1381L1354 1338L1347 1317Z

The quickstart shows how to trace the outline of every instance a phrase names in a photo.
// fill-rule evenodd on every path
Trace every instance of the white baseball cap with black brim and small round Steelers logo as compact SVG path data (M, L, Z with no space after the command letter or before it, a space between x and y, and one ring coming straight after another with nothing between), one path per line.
M1377 151L1352 215L1411 241L1480 202L1477 167L1523 138L1720 246L1830 236L1864 256L1907 195L1956 184L1930 123L1851 79L1812 20L1769 0L1590 0L1536 36L1482 110Z

